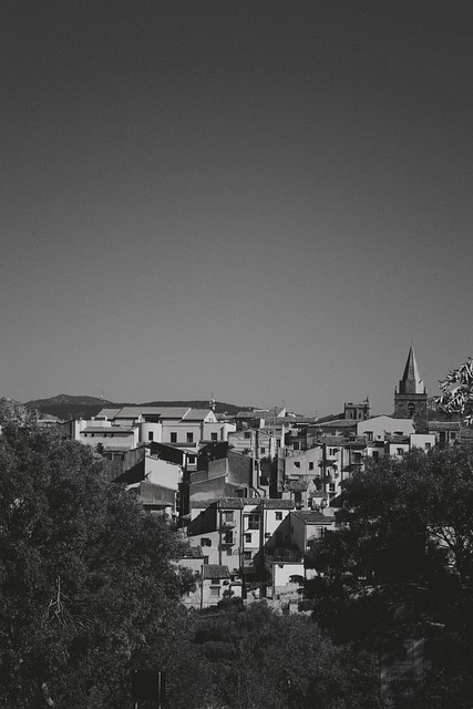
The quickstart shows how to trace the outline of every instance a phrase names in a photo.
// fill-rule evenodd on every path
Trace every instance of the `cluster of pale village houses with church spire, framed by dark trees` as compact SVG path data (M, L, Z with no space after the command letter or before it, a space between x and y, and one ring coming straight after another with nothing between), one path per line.
M285 408L216 414L210 402L104 408L54 425L103 456L109 481L175 522L191 546L181 564L200 578L184 602L204 608L232 596L296 604L305 554L336 528L342 483L353 471L413 448L473 440L459 421L428 412L411 347L391 415L372 415L369 399L322 420Z

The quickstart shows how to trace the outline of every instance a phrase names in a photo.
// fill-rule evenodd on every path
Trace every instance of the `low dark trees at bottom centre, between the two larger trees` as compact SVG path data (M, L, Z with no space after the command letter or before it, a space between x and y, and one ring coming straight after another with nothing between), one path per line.
M202 616L196 643L206 657L218 707L369 709L377 672L366 654L337 648L306 616L264 603Z

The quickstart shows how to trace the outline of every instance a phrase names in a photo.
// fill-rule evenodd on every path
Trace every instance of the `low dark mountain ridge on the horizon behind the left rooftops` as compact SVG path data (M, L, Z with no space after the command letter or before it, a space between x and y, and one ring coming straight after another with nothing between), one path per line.
M193 409L208 409L208 400L193 401L150 401L146 403L113 402L99 397L71 397L59 394L51 399L37 399L27 401L24 404L29 409L35 409L42 413L50 413L58 419L69 421L70 419L90 419L95 417L102 409L121 409L122 407L192 407ZM234 415L238 411L248 407L237 407L233 403L215 402L216 413L228 413Z

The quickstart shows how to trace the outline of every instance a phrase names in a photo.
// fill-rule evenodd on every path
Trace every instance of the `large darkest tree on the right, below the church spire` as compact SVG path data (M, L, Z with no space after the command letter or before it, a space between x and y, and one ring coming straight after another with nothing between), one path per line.
M385 458L346 483L340 531L307 565L315 619L337 643L376 650L426 638L432 707L471 707L473 450L455 445ZM449 703L451 702L451 703Z

